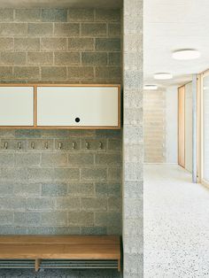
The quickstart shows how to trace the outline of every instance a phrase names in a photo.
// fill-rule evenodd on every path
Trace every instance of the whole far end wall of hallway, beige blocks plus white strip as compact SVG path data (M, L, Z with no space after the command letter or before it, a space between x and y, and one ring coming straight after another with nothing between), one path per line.
M143 91L145 163L177 164L177 100L176 87Z

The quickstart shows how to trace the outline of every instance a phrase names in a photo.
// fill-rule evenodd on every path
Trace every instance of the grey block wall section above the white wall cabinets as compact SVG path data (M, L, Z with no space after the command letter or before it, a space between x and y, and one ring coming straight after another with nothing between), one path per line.
M120 10L0 9L0 81L120 83Z

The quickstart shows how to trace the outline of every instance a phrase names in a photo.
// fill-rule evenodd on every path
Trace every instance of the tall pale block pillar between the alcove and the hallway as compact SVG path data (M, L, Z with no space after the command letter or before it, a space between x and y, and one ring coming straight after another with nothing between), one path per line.
M143 278L143 0L124 0L124 278Z

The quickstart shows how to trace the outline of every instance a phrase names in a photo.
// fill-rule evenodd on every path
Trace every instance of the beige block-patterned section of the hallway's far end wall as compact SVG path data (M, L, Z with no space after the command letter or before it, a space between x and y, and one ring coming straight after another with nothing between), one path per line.
M166 91L143 91L143 142L145 163L166 162Z

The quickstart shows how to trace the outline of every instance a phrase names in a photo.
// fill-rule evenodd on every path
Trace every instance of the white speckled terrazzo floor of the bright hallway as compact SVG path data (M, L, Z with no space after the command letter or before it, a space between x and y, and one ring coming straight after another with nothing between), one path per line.
M209 277L209 189L180 166L144 166L144 278Z

